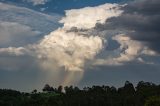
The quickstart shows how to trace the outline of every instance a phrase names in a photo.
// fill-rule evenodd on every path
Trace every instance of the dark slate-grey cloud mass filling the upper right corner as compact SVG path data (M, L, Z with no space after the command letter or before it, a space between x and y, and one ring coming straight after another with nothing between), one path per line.
M143 42L150 49L160 52L160 1L135 0L122 8L123 14L97 25L99 30L119 29L133 40Z

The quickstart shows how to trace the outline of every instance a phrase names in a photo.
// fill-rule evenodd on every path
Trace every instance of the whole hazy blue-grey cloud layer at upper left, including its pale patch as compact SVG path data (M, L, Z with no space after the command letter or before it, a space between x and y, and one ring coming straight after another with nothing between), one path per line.
M0 48L35 43L60 26L59 18L0 2Z

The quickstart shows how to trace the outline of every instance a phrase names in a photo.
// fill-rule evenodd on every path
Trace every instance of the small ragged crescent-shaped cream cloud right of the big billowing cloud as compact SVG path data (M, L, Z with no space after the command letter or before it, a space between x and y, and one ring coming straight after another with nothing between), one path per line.
M113 39L121 45L120 49L122 50L122 53L120 54L120 57L116 59L119 62L132 61L142 54L157 55L156 52L145 46L143 42L133 40L129 36L117 35Z

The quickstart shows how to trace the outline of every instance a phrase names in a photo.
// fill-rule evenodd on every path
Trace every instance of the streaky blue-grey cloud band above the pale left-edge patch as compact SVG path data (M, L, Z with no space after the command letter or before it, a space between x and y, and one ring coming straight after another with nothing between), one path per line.
M57 29L60 26L58 23L60 18L58 14L47 15L25 7L0 2L0 21L19 23L40 31L42 35Z

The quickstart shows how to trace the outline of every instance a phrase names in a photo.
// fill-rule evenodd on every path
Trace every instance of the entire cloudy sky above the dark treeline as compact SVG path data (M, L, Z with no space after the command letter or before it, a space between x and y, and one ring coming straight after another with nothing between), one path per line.
M0 88L160 83L159 0L0 0Z

